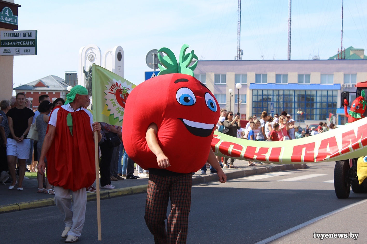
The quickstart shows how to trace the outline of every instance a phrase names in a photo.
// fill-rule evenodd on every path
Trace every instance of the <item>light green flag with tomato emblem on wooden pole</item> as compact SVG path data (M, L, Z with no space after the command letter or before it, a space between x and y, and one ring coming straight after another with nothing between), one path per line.
M121 76L93 64L93 120L110 125L121 125L124 119L126 99L135 86Z

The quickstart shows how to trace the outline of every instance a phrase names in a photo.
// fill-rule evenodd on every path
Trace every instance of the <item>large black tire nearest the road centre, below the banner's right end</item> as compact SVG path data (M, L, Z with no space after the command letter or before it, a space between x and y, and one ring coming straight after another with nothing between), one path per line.
M349 197L350 184L346 178L349 170L349 160L336 161L334 168L334 189L337 198L344 199Z

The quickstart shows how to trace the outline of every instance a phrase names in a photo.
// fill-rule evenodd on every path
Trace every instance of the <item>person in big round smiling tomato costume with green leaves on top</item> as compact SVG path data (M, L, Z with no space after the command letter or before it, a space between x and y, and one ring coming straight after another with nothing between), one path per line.
M208 161L217 169L219 181L226 181L211 149L219 105L211 91L193 77L197 61L189 65L197 56L193 50L185 55L188 47L182 46L178 63L170 49L158 50L166 54L158 53L164 67L159 64L158 76L135 87L125 105L124 148L139 166L150 170L145 222L155 243L186 243L193 172ZM167 167L159 164L161 154L148 138L152 124L154 146L169 160ZM168 200L171 213L166 231Z

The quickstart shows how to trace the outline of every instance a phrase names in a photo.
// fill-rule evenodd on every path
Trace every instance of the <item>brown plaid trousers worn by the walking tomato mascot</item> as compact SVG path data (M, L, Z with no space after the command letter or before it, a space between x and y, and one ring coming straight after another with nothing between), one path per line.
M157 176L149 174L145 223L155 244L185 244L191 205L192 174ZM167 220L168 199L171 213Z

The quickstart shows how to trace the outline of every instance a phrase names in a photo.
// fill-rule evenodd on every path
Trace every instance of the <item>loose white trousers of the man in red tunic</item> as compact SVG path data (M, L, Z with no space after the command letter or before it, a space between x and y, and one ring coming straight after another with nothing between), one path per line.
M73 196L73 204L70 194ZM87 207L87 191L81 188L77 191L55 187L55 203L61 213L65 214L65 227L71 228L68 235L80 237L83 229Z

